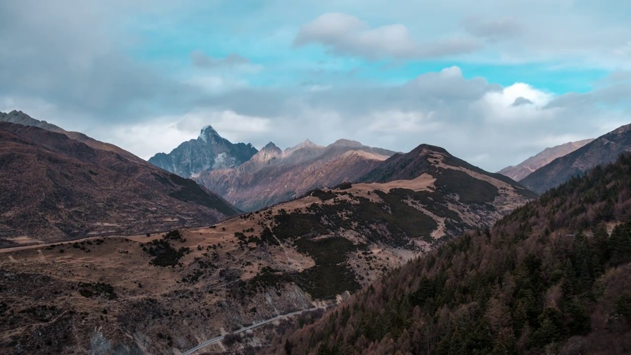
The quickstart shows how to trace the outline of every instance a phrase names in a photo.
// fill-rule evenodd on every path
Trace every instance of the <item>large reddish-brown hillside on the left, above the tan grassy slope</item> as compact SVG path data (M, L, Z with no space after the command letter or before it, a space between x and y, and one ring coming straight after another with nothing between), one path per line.
M142 160L0 122L0 238L28 243L211 224L225 200Z

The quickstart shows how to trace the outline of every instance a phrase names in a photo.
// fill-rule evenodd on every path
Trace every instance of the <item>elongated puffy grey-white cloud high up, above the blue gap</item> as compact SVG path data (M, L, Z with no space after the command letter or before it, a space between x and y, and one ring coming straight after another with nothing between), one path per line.
M370 28L355 16L325 13L303 25L293 44L322 44L336 54L350 54L369 60L385 58L422 59L457 56L478 51L481 44L471 37L453 37L418 44L401 24Z

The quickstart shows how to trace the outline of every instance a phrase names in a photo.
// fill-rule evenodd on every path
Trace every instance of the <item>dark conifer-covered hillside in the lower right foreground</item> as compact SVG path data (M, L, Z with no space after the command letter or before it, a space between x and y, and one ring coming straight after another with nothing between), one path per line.
M631 158L394 270L266 354L628 354Z

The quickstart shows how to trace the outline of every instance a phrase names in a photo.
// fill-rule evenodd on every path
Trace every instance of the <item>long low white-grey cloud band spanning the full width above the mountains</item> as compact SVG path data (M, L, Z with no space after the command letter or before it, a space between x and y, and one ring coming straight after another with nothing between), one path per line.
M347 138L401 152L429 143L497 171L543 148L595 138L631 122L631 105L624 99L630 93L631 87L615 81L588 93L553 95L527 83L501 87L485 78L467 79L452 66L402 85L221 92L188 114L140 117L109 129L94 124L83 129L83 116L45 101L4 98L0 109L27 107L37 119L84 131L143 158L169 152L211 124L228 140L259 148L268 141L291 147L307 138L323 145ZM531 103L514 105L517 99Z

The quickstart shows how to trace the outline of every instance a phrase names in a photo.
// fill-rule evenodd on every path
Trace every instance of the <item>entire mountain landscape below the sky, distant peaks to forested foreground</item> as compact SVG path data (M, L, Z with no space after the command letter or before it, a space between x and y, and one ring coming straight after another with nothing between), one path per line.
M177 354L218 335L201 351L628 347L627 127L523 179L567 180L538 196L433 145L259 151L211 127L163 155L198 184L9 116L30 126L0 122L0 352Z

